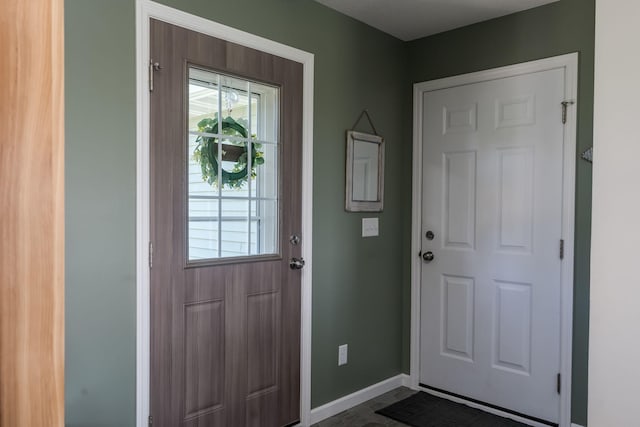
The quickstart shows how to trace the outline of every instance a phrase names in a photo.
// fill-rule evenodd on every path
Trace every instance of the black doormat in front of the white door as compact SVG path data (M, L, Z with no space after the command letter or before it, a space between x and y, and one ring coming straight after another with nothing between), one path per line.
M422 391L376 413L414 427L528 427Z

